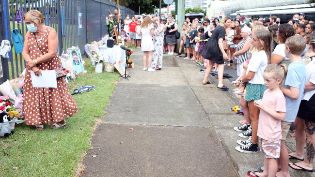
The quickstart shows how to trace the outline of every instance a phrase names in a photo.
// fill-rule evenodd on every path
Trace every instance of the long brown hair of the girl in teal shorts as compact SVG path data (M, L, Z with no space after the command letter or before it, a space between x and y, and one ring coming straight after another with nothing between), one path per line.
M271 33L268 30L255 31L255 38L260 42L262 50L266 52L268 64L271 63Z

